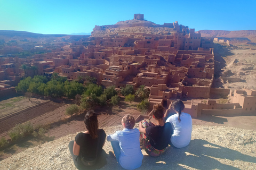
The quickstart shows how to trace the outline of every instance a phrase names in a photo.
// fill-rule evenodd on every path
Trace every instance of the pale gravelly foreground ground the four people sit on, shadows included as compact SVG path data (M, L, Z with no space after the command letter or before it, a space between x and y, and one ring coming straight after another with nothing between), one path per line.
M138 124L137 124L138 126ZM107 134L121 126L104 128ZM193 125L188 147L169 149L160 157L144 158L138 169L256 169L256 132L225 126ZM2 160L0 169L76 169L69 154L68 143L76 134L29 148ZM111 150L110 142L103 149ZM102 169L122 169L107 155L108 164Z

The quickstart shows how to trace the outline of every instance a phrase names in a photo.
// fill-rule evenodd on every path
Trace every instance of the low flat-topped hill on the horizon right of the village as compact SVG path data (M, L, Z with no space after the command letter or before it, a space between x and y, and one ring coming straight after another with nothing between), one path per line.
M226 38L248 38L256 43L256 30L224 31L224 30L199 30L202 37L226 37Z

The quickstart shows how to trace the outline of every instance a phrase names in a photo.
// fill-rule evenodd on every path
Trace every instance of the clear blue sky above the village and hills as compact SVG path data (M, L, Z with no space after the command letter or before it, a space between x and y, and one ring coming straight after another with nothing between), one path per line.
M91 32L95 25L133 19L135 13L157 24L178 21L196 31L256 30L255 0L0 0L0 30Z

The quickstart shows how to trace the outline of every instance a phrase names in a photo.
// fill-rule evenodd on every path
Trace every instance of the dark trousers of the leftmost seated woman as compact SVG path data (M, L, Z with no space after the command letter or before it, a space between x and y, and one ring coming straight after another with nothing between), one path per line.
M69 148L73 162L77 169L79 169L79 170L80 169L81 170L82 169L100 169L101 167L103 167L104 165L107 164L107 160L106 160L107 154L106 154L105 150L102 149L101 154L98 156L97 163L93 166L85 166L82 163L81 155L79 154L77 156L77 155L73 154L73 146L74 146L74 140L69 142L68 148Z

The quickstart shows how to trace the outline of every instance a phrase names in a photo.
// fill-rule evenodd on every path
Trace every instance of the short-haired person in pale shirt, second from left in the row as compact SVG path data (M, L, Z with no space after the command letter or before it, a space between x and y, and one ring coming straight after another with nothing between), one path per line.
M122 118L122 125L122 131L107 136L115 154L109 151L109 155L115 156L118 164L124 169L135 169L141 166L143 159L139 142L140 132L137 128L133 129L135 120L131 115Z

